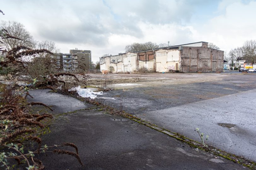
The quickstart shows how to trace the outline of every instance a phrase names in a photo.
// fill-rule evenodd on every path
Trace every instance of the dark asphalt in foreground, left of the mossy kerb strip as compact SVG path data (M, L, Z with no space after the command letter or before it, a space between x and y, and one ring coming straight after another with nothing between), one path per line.
M75 143L84 167L69 155L40 154L46 169L248 169L132 120L103 114L90 104L47 91L30 91L34 98L29 98L30 102L44 102L54 110L51 132L41 136L43 144ZM74 112L70 103L86 110ZM73 113L59 115L66 111Z

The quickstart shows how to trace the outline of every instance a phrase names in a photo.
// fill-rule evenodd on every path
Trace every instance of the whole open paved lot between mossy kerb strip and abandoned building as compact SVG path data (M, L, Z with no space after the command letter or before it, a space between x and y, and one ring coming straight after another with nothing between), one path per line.
M120 75L108 75L119 77ZM187 73L122 75L145 80L116 85L102 103L200 141L195 129L209 135L208 144L256 161L256 74ZM234 124L227 128L218 123Z

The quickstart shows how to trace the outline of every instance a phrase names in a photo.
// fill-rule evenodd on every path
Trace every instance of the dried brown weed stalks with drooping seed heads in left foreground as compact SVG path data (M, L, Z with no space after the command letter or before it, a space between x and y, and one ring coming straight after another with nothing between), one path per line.
M0 10L0 13L3 13ZM15 38L12 35L8 34L8 31L5 29L0 30L0 43L2 43L1 40L3 39L18 39ZM50 51L41 49L41 50L32 50L30 48L27 48L25 46L17 46L11 50L6 50L4 47L0 46L0 55L4 56L3 60L0 60L0 66L2 68L7 67L13 67L16 69L23 68L23 71L29 73L32 75L32 70L27 69L29 64L28 62L22 61L22 57L24 56L37 56L41 53L47 53L52 54ZM48 58L49 59L49 58ZM49 61L49 60L48 60ZM47 63L45 63L47 64ZM50 67L45 67L44 71L49 71ZM48 74L48 76L43 77L40 81L37 80L37 77L33 78L33 87L36 87L37 85L43 84L42 86L46 88L52 88L56 89L55 85L58 83L66 84L67 82L61 81L59 77L63 76L70 76L73 77L73 79L78 82L79 79L76 77L76 75L72 73L51 73L51 72L45 72ZM10 77L11 78L11 77ZM48 81L50 84L48 84ZM42 140L36 135L38 128L37 126L43 128L44 124L42 123L42 120L44 119L51 119L53 118L51 114L31 114L29 113L29 109L27 108L28 105L42 105L44 107L49 108L52 110L49 106L43 104L43 103L27 103L26 97L30 96L29 94L29 88L27 86L15 88L15 84L9 84L9 85L3 85L0 84L0 164L5 169L11 169L12 165L10 165L10 159L16 160L19 164L22 162L25 162L25 165L27 169L29 170L41 170L44 169L44 166L40 160L37 160L35 158L35 153L45 153L47 152L57 152L57 153L63 153L63 154L69 154L75 156L79 163L82 164L80 157L78 155L78 149L77 146L75 146L72 143L64 143L65 146L72 146L76 149L76 153L71 151L65 151L65 150L53 150L50 151L49 149L52 147L58 147L55 146L41 146ZM38 143L38 149L36 151L30 151L30 146L25 146L23 144L24 141L32 141ZM26 142L31 143L31 142ZM33 145L33 144L32 144ZM62 145L62 146L63 146ZM59 145L60 146L60 145ZM10 152L5 152L8 148L11 150Z

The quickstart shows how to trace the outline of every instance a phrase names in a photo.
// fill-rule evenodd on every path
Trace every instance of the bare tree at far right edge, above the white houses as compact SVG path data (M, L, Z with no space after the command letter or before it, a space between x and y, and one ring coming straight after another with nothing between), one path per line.
M254 64L256 62L256 40L247 40L243 45L245 59Z

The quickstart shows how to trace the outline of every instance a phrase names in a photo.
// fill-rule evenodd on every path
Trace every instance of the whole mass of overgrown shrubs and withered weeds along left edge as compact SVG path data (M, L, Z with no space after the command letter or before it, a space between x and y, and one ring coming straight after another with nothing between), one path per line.
M1 29L0 44L5 39L22 40L10 35L6 29ZM31 106L41 105L51 111L52 109L43 103L29 103L26 100L27 97L35 97L29 93L32 88L43 87L68 91L69 88L76 86L79 82L86 84L90 78L83 72L79 74L78 78L74 73L58 72L59 69L52 69L50 66L52 66L51 64L54 66L55 63L52 60L52 55L53 53L46 49L32 49L17 45L8 50L4 46L0 46L0 70L9 82L8 84L0 84L0 165L4 169L13 169L15 166L26 167L29 170L44 169L43 162L37 159L37 155L49 152L71 155L83 165L75 144L43 145L42 139L38 137L38 132L45 128L45 120L52 119L53 116L44 112L33 113ZM29 62L23 60L25 57L32 58L31 62L40 67L42 67L41 62L44 61L44 69L35 76L32 74L31 68L28 67L30 66ZM37 57L41 57L40 60L35 60ZM25 85L17 87L16 77L19 75L24 75ZM25 145L25 141L30 142L26 142ZM33 147L34 143L38 145L36 149ZM70 146L76 151L61 150L59 146Z

